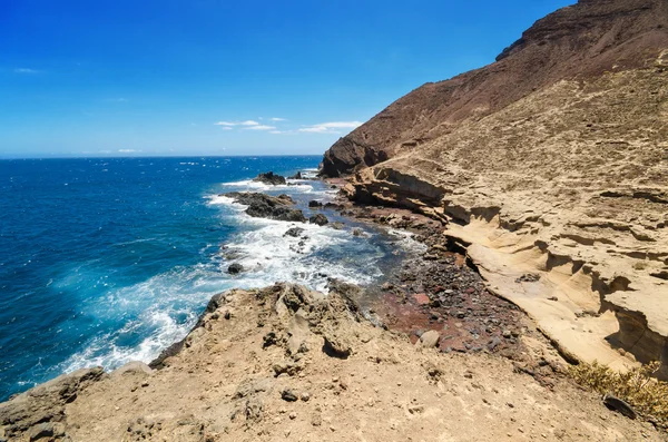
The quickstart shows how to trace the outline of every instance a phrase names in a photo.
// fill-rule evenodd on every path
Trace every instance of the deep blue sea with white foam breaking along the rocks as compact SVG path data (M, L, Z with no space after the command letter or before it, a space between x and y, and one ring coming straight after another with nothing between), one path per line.
M154 358L230 287L328 276L382 277L395 238L250 218L217 195L287 193L306 208L320 181L272 187L261 171L313 169L320 157L0 160L0 401L63 372ZM336 214L327 213L331 218ZM226 273L233 262L248 272ZM360 263L364 263L363 266Z

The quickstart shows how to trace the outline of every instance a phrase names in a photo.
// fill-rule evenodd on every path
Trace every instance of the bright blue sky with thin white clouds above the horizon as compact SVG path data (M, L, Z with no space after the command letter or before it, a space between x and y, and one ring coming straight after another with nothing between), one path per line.
M322 154L564 0L0 0L0 156Z

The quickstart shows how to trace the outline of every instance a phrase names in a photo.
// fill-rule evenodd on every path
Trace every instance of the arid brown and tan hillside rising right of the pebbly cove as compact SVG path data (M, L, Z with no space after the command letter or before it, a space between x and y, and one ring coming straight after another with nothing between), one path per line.
M564 355L668 361L667 1L539 20L497 62L336 143L323 175L353 171L352 199L450 220Z

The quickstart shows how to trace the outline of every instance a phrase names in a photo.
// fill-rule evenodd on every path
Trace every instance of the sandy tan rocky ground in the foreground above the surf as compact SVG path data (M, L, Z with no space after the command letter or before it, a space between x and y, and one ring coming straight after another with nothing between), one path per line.
M662 439L567 381L429 348L434 333L414 346L338 288L229 291L154 369L76 372L0 404L0 441Z

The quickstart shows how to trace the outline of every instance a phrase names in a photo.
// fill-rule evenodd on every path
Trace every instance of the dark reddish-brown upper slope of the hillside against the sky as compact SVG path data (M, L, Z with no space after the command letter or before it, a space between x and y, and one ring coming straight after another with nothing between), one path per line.
M586 0L537 21L497 62L400 98L325 153L321 173L353 173L450 134L560 80L651 67L668 47L665 0Z

